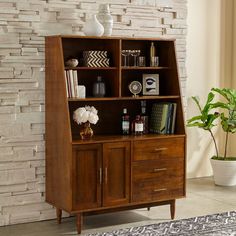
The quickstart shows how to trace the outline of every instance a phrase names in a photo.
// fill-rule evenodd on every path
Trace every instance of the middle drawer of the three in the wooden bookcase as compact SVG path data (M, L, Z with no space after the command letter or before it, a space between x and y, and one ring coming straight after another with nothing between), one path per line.
M163 159L142 162L133 162L132 180L155 178L172 181L172 178L184 176L184 159Z

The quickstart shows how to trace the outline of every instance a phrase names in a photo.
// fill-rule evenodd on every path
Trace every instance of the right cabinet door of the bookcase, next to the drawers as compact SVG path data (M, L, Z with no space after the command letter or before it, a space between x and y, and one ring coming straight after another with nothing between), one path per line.
M103 206L122 205L130 199L130 143L103 145Z

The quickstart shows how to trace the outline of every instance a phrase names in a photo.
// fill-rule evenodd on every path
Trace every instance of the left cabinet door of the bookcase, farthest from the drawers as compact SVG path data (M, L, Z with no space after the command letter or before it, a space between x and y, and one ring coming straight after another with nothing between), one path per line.
M102 146L78 145L73 148L73 210L101 206Z

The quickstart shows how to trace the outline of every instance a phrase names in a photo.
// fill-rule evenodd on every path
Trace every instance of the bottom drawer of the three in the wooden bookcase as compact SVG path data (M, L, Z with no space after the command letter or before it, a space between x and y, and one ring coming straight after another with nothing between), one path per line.
M133 202L169 200L183 196L183 177L172 178L172 181L146 179L144 181L134 181L132 185Z

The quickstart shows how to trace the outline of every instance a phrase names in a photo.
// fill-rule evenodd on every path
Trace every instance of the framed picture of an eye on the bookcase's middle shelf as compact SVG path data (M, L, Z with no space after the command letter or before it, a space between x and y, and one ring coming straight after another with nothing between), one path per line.
M159 95L159 74L143 74L143 95Z

